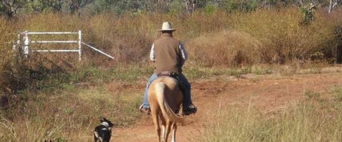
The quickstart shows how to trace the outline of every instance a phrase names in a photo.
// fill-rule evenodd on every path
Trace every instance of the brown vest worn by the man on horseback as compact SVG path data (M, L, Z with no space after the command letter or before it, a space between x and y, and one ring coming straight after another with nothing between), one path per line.
M156 62L155 73L162 71L182 73L182 58L179 50L180 41L172 37L171 34L163 33L154 42L154 54Z

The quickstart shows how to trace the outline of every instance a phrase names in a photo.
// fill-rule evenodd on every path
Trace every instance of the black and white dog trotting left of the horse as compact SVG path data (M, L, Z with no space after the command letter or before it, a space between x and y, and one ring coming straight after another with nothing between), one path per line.
M97 139L99 139L100 142L109 142L111 136L111 128L114 124L111 123L109 120L106 120L105 118L100 121L101 124L96 126L94 130L94 141L97 142Z

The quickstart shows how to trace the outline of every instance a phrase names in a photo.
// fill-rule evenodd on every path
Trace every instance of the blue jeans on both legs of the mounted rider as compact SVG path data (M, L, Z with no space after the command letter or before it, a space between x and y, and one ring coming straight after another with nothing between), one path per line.
M148 86L152 83L153 80L157 78L156 74L153 74L149 79L146 84L145 92L144 92L144 102L143 102L143 107L144 108L149 108L149 104L147 101L147 92L148 92ZM182 88L184 89L184 99L183 99L183 108L187 108L187 106L192 105L192 100L191 100L191 85L188 82L188 80L184 77L183 74L178 75L179 80L183 84Z

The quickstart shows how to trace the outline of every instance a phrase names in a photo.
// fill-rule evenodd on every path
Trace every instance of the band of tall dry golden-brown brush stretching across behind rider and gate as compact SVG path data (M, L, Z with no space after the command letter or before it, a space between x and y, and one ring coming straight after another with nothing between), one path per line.
M171 21L177 29L175 36L185 43L194 61L205 61L208 66L286 63L311 60L312 55L317 52L321 52L324 59L333 58L333 45L338 42L335 40L334 31L342 23L339 11L326 14L325 11L318 10L314 15L315 20L305 27L300 24L302 14L295 7L235 14L220 10L213 13L198 11L190 16L142 13L139 16L126 14L118 17L99 14L79 17L42 13L23 15L13 21L0 19L3 26L0 34L26 30L82 30L83 41L115 57L115 60L108 60L85 48L85 60L89 59L92 63L105 66L117 63L145 64L148 62L146 56L150 46L158 36L156 30L163 21ZM74 37L56 38L66 40ZM11 42L15 39L14 34L2 37L0 41ZM35 45L32 48L42 48L42 45Z

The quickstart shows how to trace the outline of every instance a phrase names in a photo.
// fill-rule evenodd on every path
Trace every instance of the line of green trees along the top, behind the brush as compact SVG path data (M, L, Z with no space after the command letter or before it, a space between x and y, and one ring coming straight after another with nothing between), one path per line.
M141 13L173 12L191 14L196 10L215 8L227 12L250 12L270 7L309 3L323 7L330 13L342 0L0 0L0 14L12 18L15 14L61 12L69 14L96 14L101 12Z

